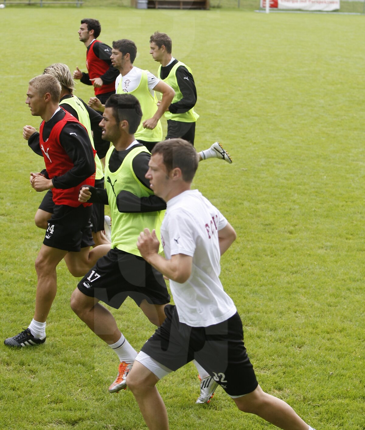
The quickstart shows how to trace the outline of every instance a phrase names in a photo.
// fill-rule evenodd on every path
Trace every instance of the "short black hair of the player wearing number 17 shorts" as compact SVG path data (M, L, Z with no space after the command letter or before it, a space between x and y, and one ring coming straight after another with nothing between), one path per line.
M134 134L142 119L141 104L138 99L132 94L113 94L106 103L105 107L113 109L113 117L117 123L120 121L128 121L129 134Z

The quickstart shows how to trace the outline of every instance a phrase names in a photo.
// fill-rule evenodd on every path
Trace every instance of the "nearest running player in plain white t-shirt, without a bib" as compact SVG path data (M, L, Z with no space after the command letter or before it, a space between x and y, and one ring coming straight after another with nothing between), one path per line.
M165 252L156 232L145 228L137 247L142 257L170 279L176 306L144 344L127 377L149 429L169 428L156 383L195 358L237 407L286 430L311 430L285 402L261 390L243 343L242 322L219 280L220 257L236 239L227 219L191 182L198 166L187 141L171 139L152 151L146 177L167 203L161 226Z

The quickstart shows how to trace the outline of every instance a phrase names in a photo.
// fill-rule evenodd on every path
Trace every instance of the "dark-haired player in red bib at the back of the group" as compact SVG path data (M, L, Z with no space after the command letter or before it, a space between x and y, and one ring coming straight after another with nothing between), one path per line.
M97 40L101 32L101 25L97 19L85 18L81 20L78 31L80 42L86 46L86 67L88 73L74 71L74 79L86 85L93 85L95 96L105 103L108 97L115 93L115 80L119 74L110 61L110 46Z

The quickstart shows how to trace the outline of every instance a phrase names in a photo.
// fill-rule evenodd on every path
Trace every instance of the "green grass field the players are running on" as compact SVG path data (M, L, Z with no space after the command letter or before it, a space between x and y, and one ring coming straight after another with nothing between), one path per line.
M135 65L156 72L155 30L193 70L196 148L215 140L233 164L200 163L193 186L227 216L238 238L221 279L242 317L261 387L317 430L365 429L364 17L238 10L12 8L2 27L0 145L0 339L34 312L41 200L29 172L43 160L22 138L39 126L25 104L28 81L53 62L85 70L80 19L101 21L100 39L129 38ZM77 85L88 100L91 87ZM62 263L47 342L0 346L1 429L144 429L129 391L109 394L117 357L71 311L77 279ZM134 302L113 311L136 349L152 334ZM240 413L223 390L195 405L193 365L158 384L172 429L273 429Z

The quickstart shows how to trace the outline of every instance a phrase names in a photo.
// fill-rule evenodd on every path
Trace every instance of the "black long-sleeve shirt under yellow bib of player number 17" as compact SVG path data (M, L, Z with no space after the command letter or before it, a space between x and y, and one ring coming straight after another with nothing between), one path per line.
M133 148L137 146L143 146L141 144L134 145L133 147L125 151L113 150L109 158L109 170L110 172L116 172L123 160L132 151ZM132 161L132 169L135 173L138 181L140 181L145 187L150 187L150 181L145 178L148 170L148 163L150 161L150 154L147 152L141 152L136 155ZM107 180L107 178L106 178ZM104 205L108 203L107 190L101 188L89 187L91 191L90 203L103 203ZM119 212L125 213L139 213L139 212L155 212L166 209L166 203L160 197L154 194L148 197L138 197L129 191L120 191L117 195L117 208Z

